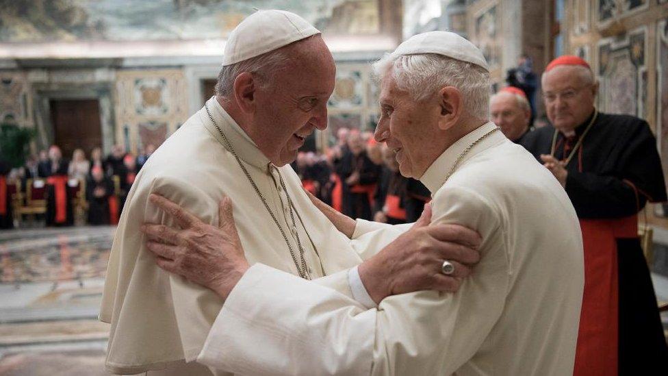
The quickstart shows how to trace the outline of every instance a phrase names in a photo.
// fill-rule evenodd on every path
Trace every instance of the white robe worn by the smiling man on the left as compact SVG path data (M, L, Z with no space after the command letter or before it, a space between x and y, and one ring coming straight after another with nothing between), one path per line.
M321 278L317 283L352 296L345 271L361 259L350 240L313 206L290 165L275 168L215 98L207 104L281 223L297 257L298 231L311 277L344 271L342 278ZM136 177L114 237L100 314L101 321L112 324L106 360L107 370L112 373L167 368L149 375L211 374L201 364L183 364L183 360L191 362L200 353L222 299L157 267L146 250L140 226L144 222L174 223L149 203L150 193L164 195L214 225L218 223L218 202L228 195L248 261L297 274L277 225L223 145L222 136L203 108L151 155ZM296 227L292 226L279 172L296 206ZM352 299L348 303L356 304ZM361 307L358 305L358 309ZM352 336L348 340L372 342L373 338ZM261 348L259 344L259 353ZM220 370L212 372L224 374Z

